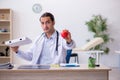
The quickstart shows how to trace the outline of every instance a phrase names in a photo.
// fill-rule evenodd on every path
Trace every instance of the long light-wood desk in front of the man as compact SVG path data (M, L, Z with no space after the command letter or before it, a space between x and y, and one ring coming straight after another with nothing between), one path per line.
M0 80L109 80L111 69L101 65L88 68L87 64L80 67L58 67L50 69L2 69Z

